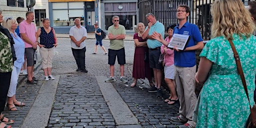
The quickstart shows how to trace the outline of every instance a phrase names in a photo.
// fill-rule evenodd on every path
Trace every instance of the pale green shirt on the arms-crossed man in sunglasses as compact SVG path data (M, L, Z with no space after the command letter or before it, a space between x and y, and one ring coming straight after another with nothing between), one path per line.
M116 34L125 34L125 28L123 25L118 25L118 28L114 28L114 25L108 27L108 33ZM109 49L118 50L123 48L123 39L110 39Z

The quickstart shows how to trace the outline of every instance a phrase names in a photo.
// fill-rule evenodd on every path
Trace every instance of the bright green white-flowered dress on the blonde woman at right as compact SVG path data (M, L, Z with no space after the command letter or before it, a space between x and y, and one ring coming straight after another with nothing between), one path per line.
M256 73L256 37L233 35L240 56L250 104L253 105ZM219 36L209 40L200 56L213 62L201 93L196 127L245 127L250 114L241 78L238 75L233 51L227 39Z

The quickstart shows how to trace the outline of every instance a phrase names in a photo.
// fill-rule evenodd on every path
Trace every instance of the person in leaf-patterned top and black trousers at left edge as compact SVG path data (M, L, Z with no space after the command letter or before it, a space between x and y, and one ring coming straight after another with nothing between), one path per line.
M2 19L0 9L0 23ZM10 76L13 62L16 60L14 41L9 31L0 24L0 128L10 128L14 121L3 116L7 93L10 85Z

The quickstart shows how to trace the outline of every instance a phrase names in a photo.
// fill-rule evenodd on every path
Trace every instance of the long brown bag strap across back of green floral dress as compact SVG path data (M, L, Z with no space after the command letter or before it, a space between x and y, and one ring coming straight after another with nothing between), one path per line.
M250 102L249 100L249 95L248 95L248 90L247 90L247 85L246 85L246 82L245 82L245 78L244 78L244 75L243 75L243 71L242 71L242 66L241 66L241 62L240 62L240 58L239 58L239 55L234 47L234 44L233 44L233 41L231 39L228 39L231 47L232 47L232 50L233 50L233 53L234 53L234 58L235 58L235 62L236 62L236 65L237 65L237 70L238 70L238 73L240 74L240 77L241 77L241 80L242 80L242 85L244 87L244 90L245 90L245 93L246 93L246 96L248 98L248 101ZM249 103L250 105L250 103ZM250 106L251 108L251 106Z

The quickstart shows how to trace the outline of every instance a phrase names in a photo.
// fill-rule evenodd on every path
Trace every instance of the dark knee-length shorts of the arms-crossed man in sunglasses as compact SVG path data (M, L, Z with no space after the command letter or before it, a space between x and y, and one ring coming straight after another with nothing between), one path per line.
M108 64L114 65L117 56L118 64L125 64L125 51L124 47L118 50L108 49Z

